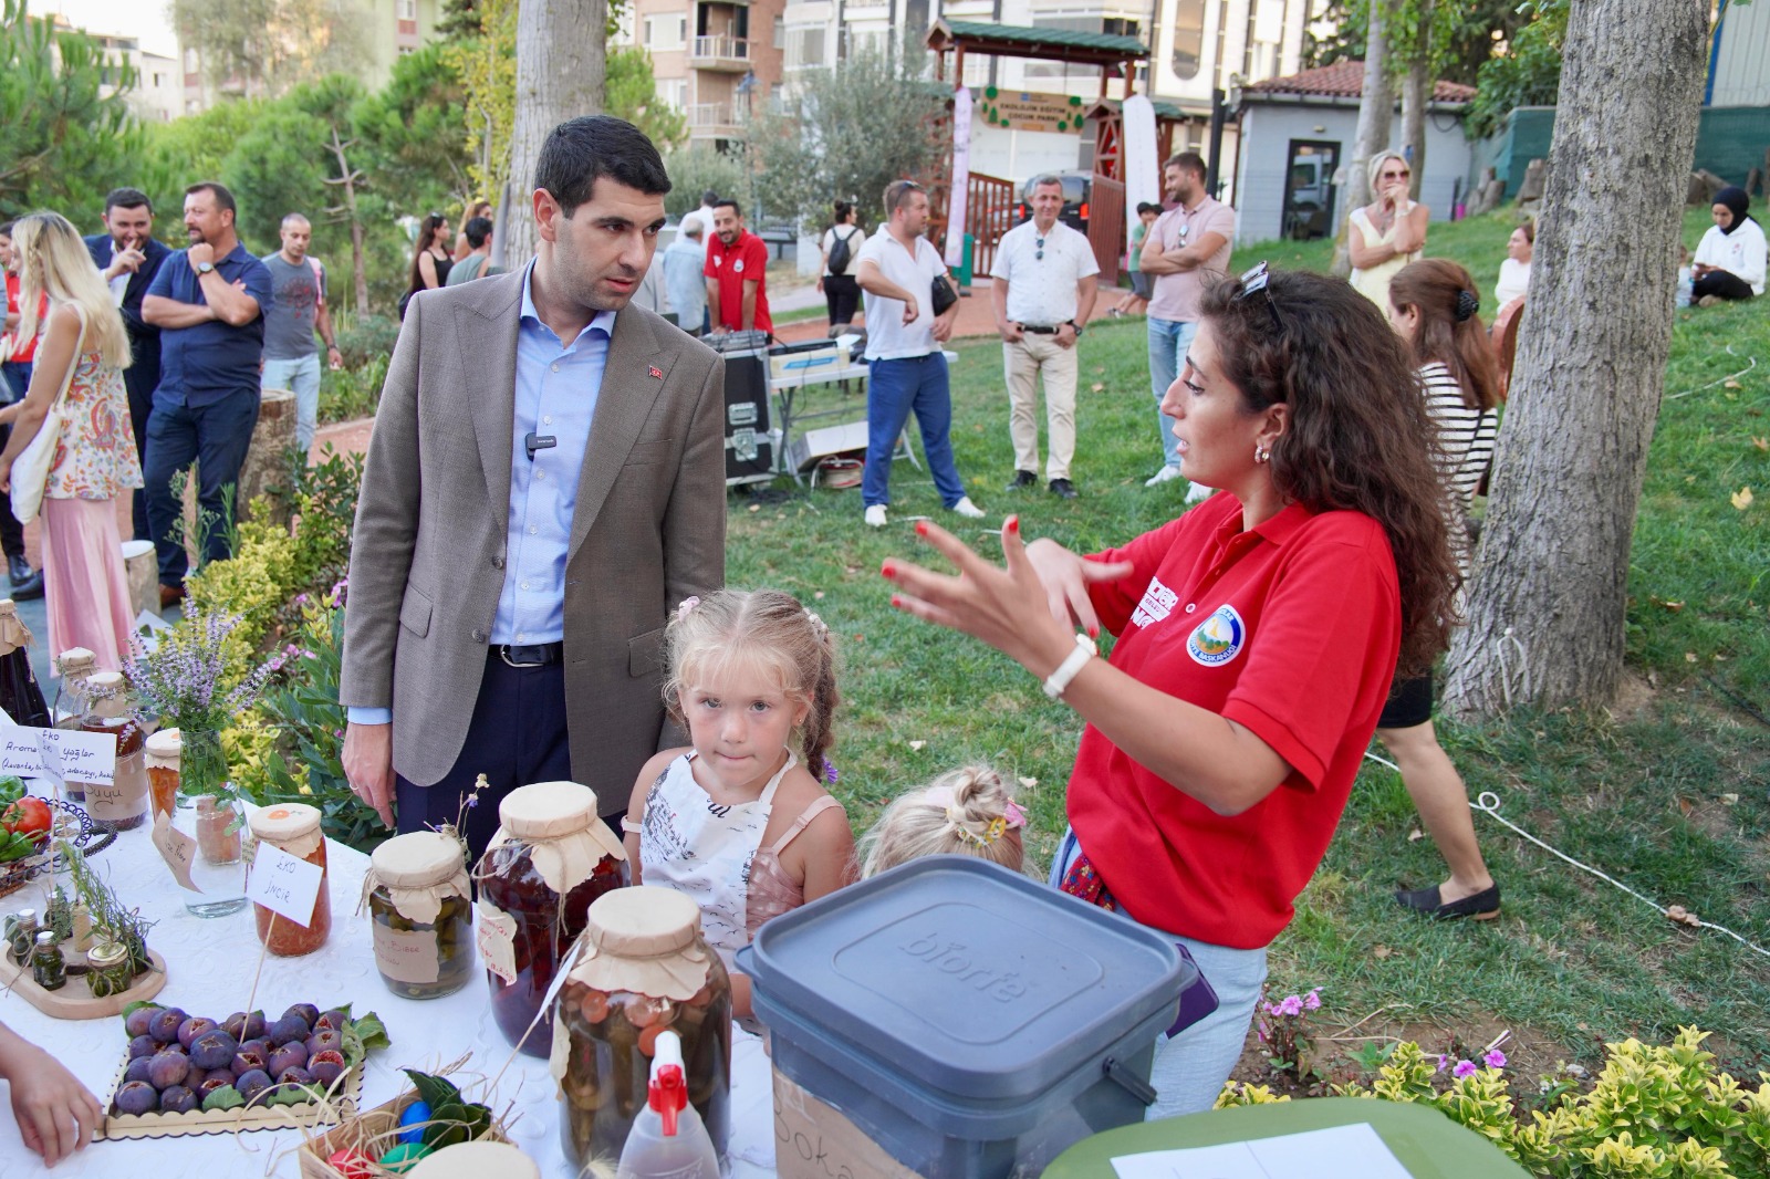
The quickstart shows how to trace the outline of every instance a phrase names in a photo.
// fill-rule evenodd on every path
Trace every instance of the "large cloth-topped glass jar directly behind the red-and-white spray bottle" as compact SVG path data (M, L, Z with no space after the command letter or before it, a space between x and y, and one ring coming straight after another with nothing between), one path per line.
M701 936L701 908L673 889L621 889L589 906L554 1004L559 1140L573 1170L620 1158L646 1105L658 1032L681 1037L689 1101L720 1163L731 1135L731 975Z

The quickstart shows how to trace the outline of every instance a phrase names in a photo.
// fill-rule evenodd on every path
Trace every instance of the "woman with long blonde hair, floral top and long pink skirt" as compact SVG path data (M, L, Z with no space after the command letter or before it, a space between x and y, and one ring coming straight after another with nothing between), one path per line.
M142 485L122 384L129 336L80 232L65 218L21 218L12 227L12 246L19 253L21 306L28 308L19 336L42 338L28 395L0 409L0 423L12 425L12 439L0 453L0 483L11 489L12 462L37 435L65 377L62 437L41 515L50 650L83 646L101 667L117 671L135 628L117 499ZM39 292L50 296L48 322L37 320Z

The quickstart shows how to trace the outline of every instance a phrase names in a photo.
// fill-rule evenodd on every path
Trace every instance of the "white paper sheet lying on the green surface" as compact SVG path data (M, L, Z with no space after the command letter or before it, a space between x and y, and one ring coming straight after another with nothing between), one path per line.
M1184 1151L1124 1154L1119 1179L1412 1179L1368 1122Z

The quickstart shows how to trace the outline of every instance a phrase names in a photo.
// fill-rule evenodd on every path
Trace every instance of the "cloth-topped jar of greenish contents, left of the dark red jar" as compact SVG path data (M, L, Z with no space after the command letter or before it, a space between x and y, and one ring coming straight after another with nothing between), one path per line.
M405 998L442 998L473 977L473 892L460 839L437 830L395 836L363 876L375 968Z

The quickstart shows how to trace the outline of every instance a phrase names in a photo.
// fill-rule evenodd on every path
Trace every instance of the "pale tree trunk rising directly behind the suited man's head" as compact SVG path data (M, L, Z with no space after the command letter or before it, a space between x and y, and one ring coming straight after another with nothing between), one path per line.
M535 165L547 135L579 115L602 113L607 83L609 0L522 0L517 9L517 117L510 133L508 266L535 253Z

